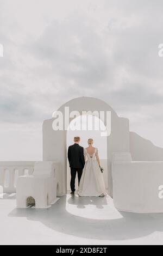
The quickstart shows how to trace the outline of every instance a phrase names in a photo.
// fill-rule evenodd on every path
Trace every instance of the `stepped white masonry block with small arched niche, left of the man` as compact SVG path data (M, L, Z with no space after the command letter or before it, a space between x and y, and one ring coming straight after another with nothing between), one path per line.
M35 162L33 175L20 176L17 180L17 208L28 208L29 198L35 201L35 208L49 208L57 202L60 175L60 163Z

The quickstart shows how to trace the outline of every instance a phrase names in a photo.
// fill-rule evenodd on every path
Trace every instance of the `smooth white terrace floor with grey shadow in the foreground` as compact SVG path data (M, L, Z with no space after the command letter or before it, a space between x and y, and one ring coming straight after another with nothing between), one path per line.
M0 199L1 245L163 245L163 214L118 212L110 197L61 197L48 210Z

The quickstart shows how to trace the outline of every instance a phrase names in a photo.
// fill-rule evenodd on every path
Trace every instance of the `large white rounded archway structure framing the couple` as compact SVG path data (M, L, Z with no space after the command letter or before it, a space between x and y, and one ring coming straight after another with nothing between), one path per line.
M129 120L120 118L106 102L93 97L78 97L62 105L58 111L65 117L65 107L70 112L78 111L110 111L111 112L111 135L107 137L108 145L108 185L109 195L112 196L111 153L118 151L130 151L129 148ZM66 132L52 129L54 118L43 122L43 161L60 161L62 166L61 195L66 194ZM70 120L71 121L71 120ZM104 120L106 126L106 120Z

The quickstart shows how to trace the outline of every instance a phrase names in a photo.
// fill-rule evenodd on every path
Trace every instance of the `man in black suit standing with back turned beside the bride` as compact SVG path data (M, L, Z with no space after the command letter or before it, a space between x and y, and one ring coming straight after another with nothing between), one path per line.
M78 181L82 177L83 168L85 165L84 148L80 147L80 137L74 137L74 144L68 148L68 161L71 168L71 194L75 192L75 180L78 173Z

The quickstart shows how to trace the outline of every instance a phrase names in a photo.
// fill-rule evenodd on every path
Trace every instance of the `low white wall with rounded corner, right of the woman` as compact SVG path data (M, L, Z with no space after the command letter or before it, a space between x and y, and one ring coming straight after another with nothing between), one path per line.
M163 162L114 162L114 205L120 211L163 212L159 187L163 185Z

